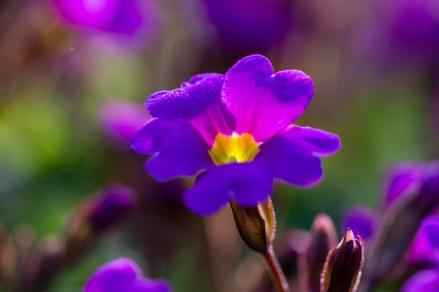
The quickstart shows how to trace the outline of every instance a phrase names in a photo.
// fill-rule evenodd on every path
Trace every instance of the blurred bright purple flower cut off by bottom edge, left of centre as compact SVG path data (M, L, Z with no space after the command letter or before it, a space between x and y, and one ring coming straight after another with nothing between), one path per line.
M170 292L165 280L142 277L142 271L129 258L118 258L102 265L90 277L83 292Z

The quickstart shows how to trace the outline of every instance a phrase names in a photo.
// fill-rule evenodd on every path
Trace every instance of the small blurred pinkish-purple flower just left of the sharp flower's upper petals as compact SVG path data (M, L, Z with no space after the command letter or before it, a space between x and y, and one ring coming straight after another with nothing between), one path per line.
M141 104L112 99L101 106L99 118L109 137L118 146L129 148L135 132L152 117Z

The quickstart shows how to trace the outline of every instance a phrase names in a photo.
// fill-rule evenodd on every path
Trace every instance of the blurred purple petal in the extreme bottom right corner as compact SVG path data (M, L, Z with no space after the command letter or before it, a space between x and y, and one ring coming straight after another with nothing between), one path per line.
M421 270L408 279L401 292L438 291L439 270Z

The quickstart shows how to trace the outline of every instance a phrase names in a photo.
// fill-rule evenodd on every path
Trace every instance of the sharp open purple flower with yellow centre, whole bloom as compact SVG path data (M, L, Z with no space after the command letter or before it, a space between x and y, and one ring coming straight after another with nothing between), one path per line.
M153 155L146 168L156 179L203 171L184 196L198 214L230 200L255 206L271 194L275 178L318 183L320 157L341 147L335 134L291 125L312 96L313 83L302 71L274 74L269 60L251 55L225 75L200 74L151 95L146 106L154 118L131 146Z

